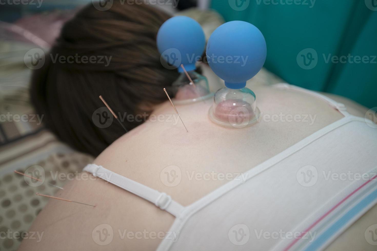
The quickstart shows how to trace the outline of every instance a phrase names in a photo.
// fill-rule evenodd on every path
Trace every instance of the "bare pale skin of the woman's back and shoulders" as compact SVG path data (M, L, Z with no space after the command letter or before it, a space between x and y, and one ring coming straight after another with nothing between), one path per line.
M146 122L116 140L93 163L165 192L186 206L228 182L190 180L187 173L245 172L343 117L327 103L307 94L268 86L248 87L256 93L257 105L264 114L310 114L316 118L314 121L308 118L308 122L262 119L242 129L224 128L208 119L211 105L208 99L176 106L189 132L180 120L177 124L173 119L172 122ZM364 117L367 109L346 102L352 114ZM169 101L157 106L154 114L162 114L165 119L176 116ZM182 172L181 182L174 187L166 186L160 178L162 169L170 165L178 166ZM158 233L169 231L175 220L152 203L103 180L70 181L55 196L95 207L50 199L30 229L44 231L41 242L25 239L19 250L155 250L163 237ZM328 250L375 250L375 246L365 241L364 231L377 223L376 214L377 207L374 207ZM114 231L108 245L93 241L92 231L100 224L109 224ZM125 230L139 231L141 238L127 237ZM144 238L143 231L156 235Z

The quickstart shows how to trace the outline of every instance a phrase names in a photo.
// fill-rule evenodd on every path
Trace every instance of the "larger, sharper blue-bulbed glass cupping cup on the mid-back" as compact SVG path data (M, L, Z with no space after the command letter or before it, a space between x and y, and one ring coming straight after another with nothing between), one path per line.
M243 128L256 123L260 111L246 81L261 70L267 55L262 33L250 23L231 21L219 26L207 43L212 70L225 81L215 93L208 115L221 126Z

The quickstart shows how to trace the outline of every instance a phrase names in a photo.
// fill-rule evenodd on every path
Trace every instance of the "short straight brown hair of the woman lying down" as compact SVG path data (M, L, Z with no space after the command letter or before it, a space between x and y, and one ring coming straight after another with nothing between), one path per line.
M115 113L150 113L167 100L163 88L178 78L164 68L156 47L156 34L170 16L147 5L121 5L99 11L92 4L68 21L42 68L32 76L31 100L44 125L73 148L100 154L125 133L115 121L100 128L92 115L104 106L102 95ZM58 58L71 56L71 62ZM95 56L95 63L72 62L72 56ZM99 62L100 58L110 58ZM56 61L55 61L56 59ZM169 93L174 96L174 93ZM140 121L124 120L128 130Z

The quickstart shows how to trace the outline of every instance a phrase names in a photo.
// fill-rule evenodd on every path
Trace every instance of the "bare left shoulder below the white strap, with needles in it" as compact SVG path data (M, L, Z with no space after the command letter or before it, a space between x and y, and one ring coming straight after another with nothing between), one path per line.
M55 196L95 207L51 199L30 230L43 234L41 241L25 239L19 250L155 250L173 222L170 214L88 173Z

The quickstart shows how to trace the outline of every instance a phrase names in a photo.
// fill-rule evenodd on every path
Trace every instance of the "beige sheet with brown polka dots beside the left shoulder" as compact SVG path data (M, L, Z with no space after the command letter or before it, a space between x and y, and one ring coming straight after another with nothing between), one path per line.
M79 153L53 154L34 166L17 170L40 181L15 172L0 177L0 251L17 250L21 233L29 230L47 204L49 198L36 193L54 195L60 190L55 186L63 187L69 181L57 178L58 174L72 177L92 161L92 157Z

